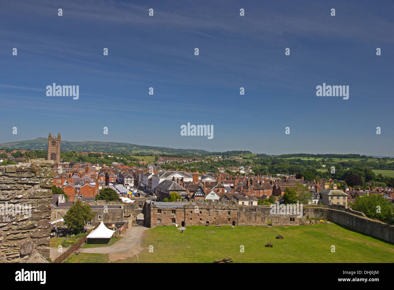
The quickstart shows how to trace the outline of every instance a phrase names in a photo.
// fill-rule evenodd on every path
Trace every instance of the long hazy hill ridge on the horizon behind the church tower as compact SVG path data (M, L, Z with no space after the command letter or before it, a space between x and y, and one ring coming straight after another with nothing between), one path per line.
M1 143L0 148L21 150L48 150L48 138L38 137L33 140ZM220 152L209 152L199 149L175 149L158 146L144 146L120 142L81 141L70 142L61 140L61 151L106 152L106 153L141 153L141 154L180 154L180 155L216 155Z

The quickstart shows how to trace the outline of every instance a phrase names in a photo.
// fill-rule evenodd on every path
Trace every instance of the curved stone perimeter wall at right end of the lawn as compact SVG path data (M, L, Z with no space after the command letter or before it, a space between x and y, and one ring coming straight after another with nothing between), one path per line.
M365 217L364 213L353 211L350 208L342 207L342 210L331 206L306 208L304 217L312 219L324 218L336 224L347 226L357 232L394 243L394 225L369 219Z

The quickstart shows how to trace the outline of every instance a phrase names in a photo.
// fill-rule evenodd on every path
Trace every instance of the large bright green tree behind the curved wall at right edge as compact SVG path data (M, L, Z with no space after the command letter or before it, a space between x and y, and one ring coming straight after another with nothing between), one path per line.
M380 206L380 212L378 212ZM394 206L383 195L361 195L355 199L351 208L363 212L370 219L379 219L384 223L394 223Z

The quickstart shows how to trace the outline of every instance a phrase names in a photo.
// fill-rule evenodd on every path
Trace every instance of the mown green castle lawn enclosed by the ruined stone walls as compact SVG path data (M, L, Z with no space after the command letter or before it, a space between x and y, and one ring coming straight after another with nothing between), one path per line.
M284 239L275 237L281 234ZM268 242L272 248L264 247ZM153 253L149 253L149 246ZM243 245L244 253L240 252ZM331 246L335 245L335 253ZM158 226L146 231L138 257L116 262L212 263L231 257L234 262L392 263L394 245L353 232L342 226L188 226L181 234L175 226ZM107 254L81 253L68 262L108 262Z

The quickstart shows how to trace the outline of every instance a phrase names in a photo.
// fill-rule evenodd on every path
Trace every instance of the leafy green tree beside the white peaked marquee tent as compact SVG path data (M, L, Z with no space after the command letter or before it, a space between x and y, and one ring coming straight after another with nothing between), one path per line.
M85 223L91 221L95 216L90 210L89 204L83 205L80 200L67 211L63 216L64 224L72 230L72 233L79 234L84 229Z

